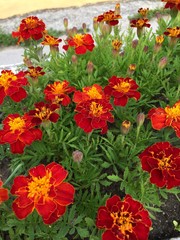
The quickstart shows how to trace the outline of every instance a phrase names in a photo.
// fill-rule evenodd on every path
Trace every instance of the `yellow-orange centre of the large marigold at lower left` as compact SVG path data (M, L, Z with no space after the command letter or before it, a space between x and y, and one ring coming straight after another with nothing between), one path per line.
M38 201L40 197L48 198L52 186L51 175L51 172L47 172L46 176L42 178L32 177L32 181L28 183L28 198L34 198L34 202Z

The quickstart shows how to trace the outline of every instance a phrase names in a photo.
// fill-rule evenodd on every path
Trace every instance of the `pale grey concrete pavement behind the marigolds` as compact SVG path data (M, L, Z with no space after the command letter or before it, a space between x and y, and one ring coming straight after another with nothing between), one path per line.
M64 9L51 9L45 11L37 11L31 13L38 18L42 19L47 29L56 29L63 31L63 19L66 17L69 20L69 28L76 26L81 28L82 23L86 23L87 28L90 32L93 32L93 18L102 14L108 10L114 10L116 2L105 2L99 4L85 5L82 7L71 7ZM121 15L122 19L120 20L121 32L126 32L129 27L129 16L136 14L138 9L149 8L157 9L162 8L164 3L161 1L128 1L121 3ZM21 20L24 17L29 16L25 14L22 16L15 16L7 19L0 19L0 29L4 32L11 33L16 31ZM157 29L157 19L150 21L152 31L155 32ZM136 29L134 29L136 31ZM5 68L11 68L13 65L17 65L23 62L23 53L24 49L21 46L11 46L4 47L0 49L0 70Z

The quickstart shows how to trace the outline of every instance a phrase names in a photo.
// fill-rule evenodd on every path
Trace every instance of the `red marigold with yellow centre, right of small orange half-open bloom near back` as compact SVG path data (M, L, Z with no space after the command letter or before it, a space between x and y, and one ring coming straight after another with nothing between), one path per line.
M94 48L94 40L90 34L75 34L65 41L67 45L63 46L64 50L68 50L69 47L75 49L76 54L85 54L88 51L92 51Z

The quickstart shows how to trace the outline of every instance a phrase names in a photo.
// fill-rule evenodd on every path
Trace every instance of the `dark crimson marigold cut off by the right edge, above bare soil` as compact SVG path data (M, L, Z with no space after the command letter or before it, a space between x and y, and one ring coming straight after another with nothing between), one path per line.
M180 186L180 149L169 142L158 142L140 155L142 169L150 173L150 182L167 189Z

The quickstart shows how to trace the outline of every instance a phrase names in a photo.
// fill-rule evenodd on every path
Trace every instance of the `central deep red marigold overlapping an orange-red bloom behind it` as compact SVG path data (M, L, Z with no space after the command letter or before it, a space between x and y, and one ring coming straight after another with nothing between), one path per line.
M112 105L105 99L94 99L80 102L74 116L76 124L86 133L90 133L93 129L101 129L101 133L107 132L107 122L114 122L114 117L110 113Z

